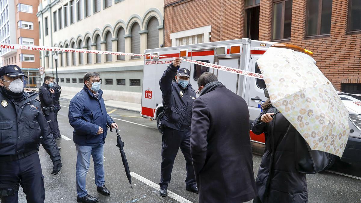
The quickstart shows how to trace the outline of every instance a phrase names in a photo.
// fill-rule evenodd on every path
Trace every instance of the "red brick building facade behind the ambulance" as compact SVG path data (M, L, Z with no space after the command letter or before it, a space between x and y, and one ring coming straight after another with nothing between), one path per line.
M276 11L282 14L280 27L274 26ZM211 30L209 39L201 42L247 37L291 43L313 51L326 77L343 91L356 94L361 94L359 23L361 5L356 0L164 0L165 47L181 44L172 42L179 41L173 33L204 26ZM281 39L275 40L276 35Z

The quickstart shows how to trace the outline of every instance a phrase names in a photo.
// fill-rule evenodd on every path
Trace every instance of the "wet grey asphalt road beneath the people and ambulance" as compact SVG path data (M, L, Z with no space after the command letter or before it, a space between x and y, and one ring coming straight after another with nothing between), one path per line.
M45 202L68 203L77 202L75 185L76 151L73 142L73 128L68 121L69 101L61 100L62 109L58 113L58 122L62 135L70 138L70 141L60 139L57 141L61 146L63 168L57 176L51 174L53 165L45 150L40 147L39 156L45 176ZM107 108L108 112L113 108ZM156 184L160 181L161 163L161 134L156 129L156 122L139 116L139 113L116 109L110 113L113 118L130 121L141 125L132 124L121 120L114 120L119 126L119 133L125 142L125 152L129 161L131 172L134 172ZM87 190L90 195L99 198L99 202L106 203L171 203L178 202L175 199L161 197L156 189L146 183L132 177L133 190L125 176L121 163L119 149L116 147L116 133L110 133L105 141L104 167L105 185L111 192L110 196L103 196L96 191L93 161L87 174ZM255 176L261 161L263 146L253 143L253 169ZM330 170L340 173L348 173L352 176L361 177L360 165L336 163ZM179 150L174 163L172 179L168 190L180 195L190 202L197 203L197 194L185 190L186 167L183 154ZM307 175L309 202L319 203L360 203L361 180L330 172ZM25 194L19 190L19 202L26 202ZM251 201L252 202L252 201Z

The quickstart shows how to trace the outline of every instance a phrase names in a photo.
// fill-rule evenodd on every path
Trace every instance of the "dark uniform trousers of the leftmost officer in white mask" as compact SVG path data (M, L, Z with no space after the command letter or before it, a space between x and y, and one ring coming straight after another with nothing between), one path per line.
M45 200L44 176L38 152L25 158L0 163L0 188L11 189L10 185L21 185L28 203L43 203ZM2 203L18 203L18 192L1 197Z

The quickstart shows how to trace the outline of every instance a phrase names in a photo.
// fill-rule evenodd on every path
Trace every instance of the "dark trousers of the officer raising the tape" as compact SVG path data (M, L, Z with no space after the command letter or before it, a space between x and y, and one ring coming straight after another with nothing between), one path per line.
M162 136L162 163L160 187L168 187L170 182L174 159L177 156L179 148L186 159L186 187L195 187L196 178L192 165L191 148L190 148L191 132L182 132L168 127L164 128Z

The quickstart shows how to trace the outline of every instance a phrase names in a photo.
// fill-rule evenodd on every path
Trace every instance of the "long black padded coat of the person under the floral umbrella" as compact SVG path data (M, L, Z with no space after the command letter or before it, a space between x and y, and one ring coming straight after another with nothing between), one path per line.
M276 112L276 108L270 107L252 124L253 133L266 136L265 153L256 178L257 202L305 203L308 201L306 174L296 170L295 128L281 113L274 115L269 123L261 121L263 114Z

